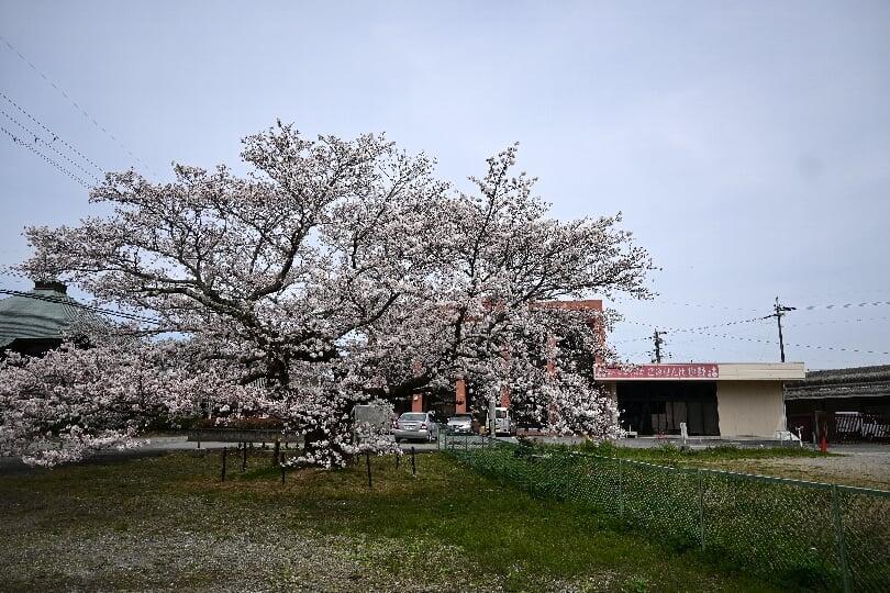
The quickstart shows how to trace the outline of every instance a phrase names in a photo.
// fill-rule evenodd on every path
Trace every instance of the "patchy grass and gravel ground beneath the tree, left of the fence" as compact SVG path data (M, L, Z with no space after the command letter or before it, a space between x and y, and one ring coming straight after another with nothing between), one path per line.
M440 454L288 474L174 454L0 478L0 589L769 591ZM231 468L231 463L230 463ZM251 469L256 468L256 469Z

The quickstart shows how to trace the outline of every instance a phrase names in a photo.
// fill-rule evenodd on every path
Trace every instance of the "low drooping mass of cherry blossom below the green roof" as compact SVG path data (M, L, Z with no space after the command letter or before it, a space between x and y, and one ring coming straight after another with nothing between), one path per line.
M0 452L52 467L137 445L158 417L191 416L202 401L251 400L252 388L201 369L193 372L175 342L112 338L93 348L65 343L42 357L11 353L0 360Z

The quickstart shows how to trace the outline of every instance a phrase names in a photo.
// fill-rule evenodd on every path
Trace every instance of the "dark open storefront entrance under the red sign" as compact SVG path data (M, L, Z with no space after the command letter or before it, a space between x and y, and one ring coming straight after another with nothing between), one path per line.
M621 427L639 435L719 436L716 383L713 381L619 382Z

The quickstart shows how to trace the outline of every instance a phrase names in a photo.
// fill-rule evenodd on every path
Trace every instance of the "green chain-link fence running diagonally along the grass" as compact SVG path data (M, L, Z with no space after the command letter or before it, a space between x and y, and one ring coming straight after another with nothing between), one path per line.
M675 468L485 436L440 446L535 496L571 501L777 583L890 591L890 492Z

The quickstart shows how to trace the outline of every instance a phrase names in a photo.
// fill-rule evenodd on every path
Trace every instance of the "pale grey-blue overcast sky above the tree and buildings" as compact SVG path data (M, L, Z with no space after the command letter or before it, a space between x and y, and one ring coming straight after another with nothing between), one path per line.
M276 118L387 132L458 181L520 141L556 216L623 211L663 268L656 301L616 304L633 360L650 324L748 320L779 295L815 306L786 318L789 360L890 362L852 351L890 351L890 304L823 306L890 301L886 1L4 0L0 35L58 88L0 43L0 90L103 169L236 165ZM0 265L26 256L24 225L88 212L0 133ZM775 320L666 339L680 361L778 360Z

